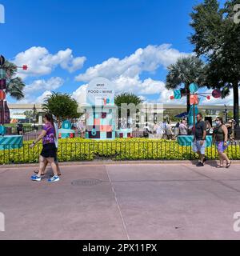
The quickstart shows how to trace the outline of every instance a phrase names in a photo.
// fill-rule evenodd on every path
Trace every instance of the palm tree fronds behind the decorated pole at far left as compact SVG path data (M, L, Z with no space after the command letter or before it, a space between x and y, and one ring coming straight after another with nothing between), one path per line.
M6 61L2 68L6 71L6 94L10 94L11 97L17 100L24 98L23 88L25 84L22 82L22 78L16 77L17 66Z

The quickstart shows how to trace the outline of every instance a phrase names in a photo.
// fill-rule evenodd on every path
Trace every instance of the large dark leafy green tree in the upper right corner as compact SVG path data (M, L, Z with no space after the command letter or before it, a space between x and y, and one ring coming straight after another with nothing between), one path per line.
M240 82L240 23L234 22L234 5L239 0L226 1L220 8L217 0L204 0L190 14L194 34L190 42L198 56L208 62L206 84L209 88L226 88L222 98L234 91L234 119L239 124L238 86Z

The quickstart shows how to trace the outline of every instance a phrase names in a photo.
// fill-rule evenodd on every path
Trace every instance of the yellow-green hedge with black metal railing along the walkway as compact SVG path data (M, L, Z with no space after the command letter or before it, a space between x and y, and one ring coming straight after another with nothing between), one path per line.
M193 160L197 154L192 147L179 146L166 140L117 139L115 141L59 141L59 162L92 160ZM13 149L15 147L15 149ZM0 164L38 162L42 144L30 149L30 142L18 145L0 145ZM231 159L240 159L240 142L232 142L226 150ZM215 146L206 148L206 156L218 159Z

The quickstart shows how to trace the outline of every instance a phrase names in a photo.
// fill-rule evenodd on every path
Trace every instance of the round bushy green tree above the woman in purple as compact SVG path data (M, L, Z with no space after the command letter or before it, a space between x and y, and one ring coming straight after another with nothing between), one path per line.
M54 114L58 121L68 118L79 118L78 102L69 94L53 93L44 99L42 109Z

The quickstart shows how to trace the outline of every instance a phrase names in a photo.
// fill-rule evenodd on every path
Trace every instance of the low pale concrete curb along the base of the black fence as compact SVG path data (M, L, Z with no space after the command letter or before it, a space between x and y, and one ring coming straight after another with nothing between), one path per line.
M207 163L216 164L217 160L209 160ZM92 162L59 162L59 166L106 166L106 165L194 165L197 163L197 160L149 160L149 161L92 161ZM233 165L240 165L240 160L233 160ZM29 168L29 167L38 167L38 163L29 163L29 164L14 164L14 165L2 165L0 169L6 168Z

